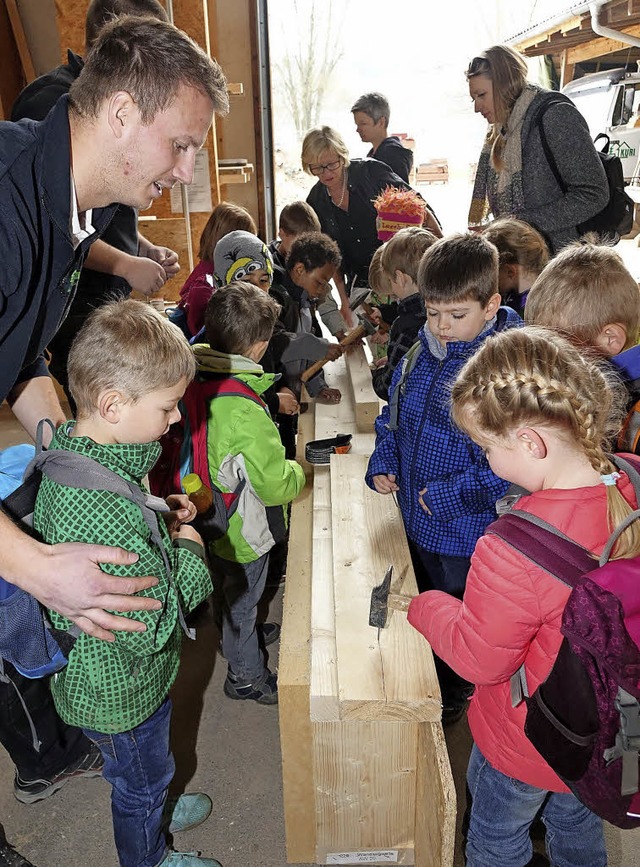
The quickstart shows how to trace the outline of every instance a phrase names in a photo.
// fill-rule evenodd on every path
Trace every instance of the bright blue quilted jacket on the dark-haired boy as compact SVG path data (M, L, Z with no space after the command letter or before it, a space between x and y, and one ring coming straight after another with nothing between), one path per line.
M509 487L492 473L482 449L453 424L450 388L465 361L487 337L519 325L522 321L517 313L501 307L475 340L449 343L446 351L425 325L419 333L421 352L400 395L398 429L387 428L388 405L376 419L376 447L366 483L373 488L373 476L395 474L407 535L427 551L470 557L476 541L496 517L496 500ZM401 362L394 371L390 400L403 368ZM431 515L418 501L425 487L423 500Z

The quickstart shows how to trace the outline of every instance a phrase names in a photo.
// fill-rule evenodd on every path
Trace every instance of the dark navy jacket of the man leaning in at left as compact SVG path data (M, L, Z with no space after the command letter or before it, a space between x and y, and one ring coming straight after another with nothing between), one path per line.
M44 350L116 208L94 210L96 234L73 249L67 104L62 97L41 122L0 122L0 400L46 374Z

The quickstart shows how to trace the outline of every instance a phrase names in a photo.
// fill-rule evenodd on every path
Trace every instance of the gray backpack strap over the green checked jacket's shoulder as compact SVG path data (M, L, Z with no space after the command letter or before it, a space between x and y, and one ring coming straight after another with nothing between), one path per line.
M36 455L25 470L25 481L33 472L38 470L59 485L88 491L108 491L130 500L140 509L151 533L151 541L162 555L169 585L176 590L180 626L185 635L192 639L195 638L195 629L190 629L184 618L180 597L171 572L171 564L158 526L157 513L169 511L166 502L161 497L154 497L145 493L138 485L123 479L122 476L103 467L93 458L80 455L77 452L49 449Z

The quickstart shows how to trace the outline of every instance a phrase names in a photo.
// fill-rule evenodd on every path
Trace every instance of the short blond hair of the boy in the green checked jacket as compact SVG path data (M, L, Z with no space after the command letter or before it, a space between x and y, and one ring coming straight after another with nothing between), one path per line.
M94 310L69 352L69 389L78 418L92 415L100 394L121 392L132 403L196 372L184 334L150 304L127 299Z

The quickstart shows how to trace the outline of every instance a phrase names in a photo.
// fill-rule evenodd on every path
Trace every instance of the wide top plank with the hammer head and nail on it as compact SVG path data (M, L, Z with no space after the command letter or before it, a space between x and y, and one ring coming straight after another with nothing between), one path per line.
M379 635L369 626L371 590L390 563L395 591L417 588L398 509L365 486L366 466L364 455L331 459L340 719L436 721L440 690L424 638L397 611Z

